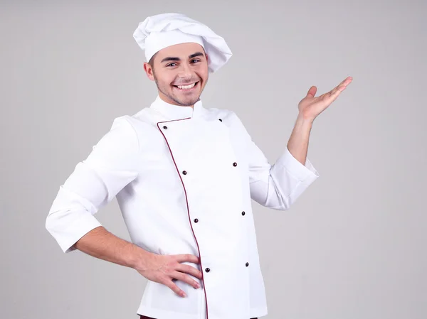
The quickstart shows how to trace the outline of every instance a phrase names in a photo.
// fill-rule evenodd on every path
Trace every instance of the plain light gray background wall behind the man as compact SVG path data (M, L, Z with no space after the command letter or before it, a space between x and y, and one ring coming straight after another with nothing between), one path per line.
M274 163L297 104L351 75L315 120L320 178L287 212L253 202L268 319L427 317L426 1L1 1L0 318L137 318L146 280L45 229L59 185L157 94L132 33L186 13L226 38L206 107ZM96 215L129 239L117 203Z

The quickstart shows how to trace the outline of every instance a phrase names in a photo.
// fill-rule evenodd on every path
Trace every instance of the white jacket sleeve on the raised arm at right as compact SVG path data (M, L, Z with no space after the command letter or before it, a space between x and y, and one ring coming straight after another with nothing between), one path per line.
M297 198L318 177L308 158L305 165L292 156L288 148L270 165L263 151L255 144L238 119L243 143L246 145L251 198L275 210L288 210Z

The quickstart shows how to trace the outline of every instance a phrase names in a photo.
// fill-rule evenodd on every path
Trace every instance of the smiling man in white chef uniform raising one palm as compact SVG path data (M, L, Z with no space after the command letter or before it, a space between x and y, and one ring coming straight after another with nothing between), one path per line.
M228 109L199 97L231 57L204 24L165 13L139 23L144 70L157 99L115 119L60 186L46 220L63 252L131 267L148 279L137 313L157 319L249 319L267 314L251 199L288 210L317 178L310 129L351 82L298 105L283 155L272 166ZM93 216L117 197L131 242Z

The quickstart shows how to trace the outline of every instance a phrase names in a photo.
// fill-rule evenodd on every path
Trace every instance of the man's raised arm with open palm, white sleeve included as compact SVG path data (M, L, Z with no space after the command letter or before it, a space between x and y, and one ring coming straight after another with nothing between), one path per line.
M248 132L243 128L247 141L249 182L251 197L265 207L288 210L295 200L311 185L319 174L307 158L308 140L315 118L334 102L353 80L346 77L337 87L315 97L317 87L312 86L298 104L298 117L285 149L278 161L270 166ZM243 126L243 124L241 125Z

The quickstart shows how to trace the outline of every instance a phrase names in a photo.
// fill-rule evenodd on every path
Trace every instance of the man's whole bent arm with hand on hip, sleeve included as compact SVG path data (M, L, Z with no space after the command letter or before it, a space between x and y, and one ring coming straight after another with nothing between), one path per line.
M60 186L46 218L46 228L63 252L79 249L98 259L128 266L145 278L168 286L179 296L185 296L173 279L199 288L199 283L187 274L201 279L201 271L181 264L199 264L199 257L147 252L107 232L93 216L137 178L142 169L139 152L137 133L132 125L125 117L115 119L112 129Z

